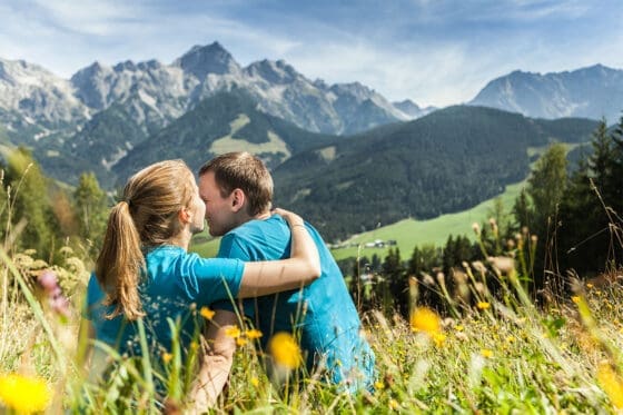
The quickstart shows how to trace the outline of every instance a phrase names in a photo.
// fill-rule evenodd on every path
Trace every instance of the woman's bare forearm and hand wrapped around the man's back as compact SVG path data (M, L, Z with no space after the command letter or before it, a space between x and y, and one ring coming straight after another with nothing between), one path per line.
M300 216L284 209L275 211L287 220L291 231L290 258L246 263L239 298L296 289L320 276L320 258Z

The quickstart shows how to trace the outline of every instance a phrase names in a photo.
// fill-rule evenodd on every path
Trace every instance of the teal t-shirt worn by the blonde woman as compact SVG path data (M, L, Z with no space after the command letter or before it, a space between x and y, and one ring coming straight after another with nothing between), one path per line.
M197 315L202 306L236 297L245 264L237 259L201 258L177 246L160 246L146 255L147 273L139 285L144 324L149 350L170 353L171 328L167 318L181 324L181 352L188 349L201 323ZM139 355L138 327L122 316L107 319L115 307L103 306L105 298L97 278L91 275L87 290L87 317L96 338L121 354Z

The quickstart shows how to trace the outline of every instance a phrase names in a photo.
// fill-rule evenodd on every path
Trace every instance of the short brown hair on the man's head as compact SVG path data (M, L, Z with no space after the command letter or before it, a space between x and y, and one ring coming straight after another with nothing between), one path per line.
M273 177L258 157L247 151L226 152L201 166L199 177L208 171L214 172L220 196L227 197L235 189L245 192L249 216L270 209Z

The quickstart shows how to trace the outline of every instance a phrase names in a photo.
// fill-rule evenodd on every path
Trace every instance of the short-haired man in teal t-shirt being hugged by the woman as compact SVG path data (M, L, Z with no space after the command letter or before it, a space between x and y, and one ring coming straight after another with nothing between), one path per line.
M290 231L278 215L270 215L273 178L259 158L229 152L208 161L199 170L199 195L210 235L222 236L218 257L266 260L289 255ZM360 334L344 276L320 235L306 227L320 255L320 277L301 289L246 300L244 314L263 333L263 347L274 334L290 333L300 339L309 373L322 370L325 381L348 391L372 388L374 354ZM219 308L220 326L237 320L231 304L215 305Z

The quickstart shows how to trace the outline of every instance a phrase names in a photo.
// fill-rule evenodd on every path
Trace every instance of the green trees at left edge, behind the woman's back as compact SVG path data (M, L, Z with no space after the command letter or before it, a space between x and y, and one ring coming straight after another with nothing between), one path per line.
M0 161L0 237L9 253L34 250L55 263L61 246L93 256L103 237L111 196L92 172L69 188L41 172L29 150L18 148Z

